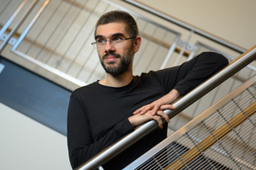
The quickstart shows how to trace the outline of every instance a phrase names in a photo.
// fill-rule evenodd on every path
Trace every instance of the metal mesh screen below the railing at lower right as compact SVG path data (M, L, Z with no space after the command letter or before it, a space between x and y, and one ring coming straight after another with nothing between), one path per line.
M137 169L256 169L256 83Z

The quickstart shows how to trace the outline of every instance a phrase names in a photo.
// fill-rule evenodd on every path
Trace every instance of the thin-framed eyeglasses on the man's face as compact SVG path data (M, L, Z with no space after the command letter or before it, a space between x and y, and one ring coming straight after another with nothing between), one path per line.
M96 42L92 42L91 44L93 45L93 47L95 49L101 49L103 48L107 42L110 42L112 45L115 45L115 46L121 46L122 43L126 40L129 40L129 39L135 39L136 37L129 37L129 38L123 38L123 37L114 37L112 39L105 39L105 38L99 38L96 40Z

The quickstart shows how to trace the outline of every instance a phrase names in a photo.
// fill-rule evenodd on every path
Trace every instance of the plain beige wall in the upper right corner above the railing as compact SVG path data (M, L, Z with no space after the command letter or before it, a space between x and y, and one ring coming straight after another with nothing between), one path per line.
M255 0L137 0L246 49L256 44Z

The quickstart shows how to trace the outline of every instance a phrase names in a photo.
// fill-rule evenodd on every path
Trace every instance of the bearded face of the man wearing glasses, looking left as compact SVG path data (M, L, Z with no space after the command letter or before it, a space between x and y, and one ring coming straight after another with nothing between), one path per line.
M105 45L97 48L101 65L105 72L112 76L120 76L132 69L134 58L133 45L131 40L122 41L119 45L109 42L116 38L129 38L125 31L125 24L111 23L98 26L96 31L96 41L107 40Z

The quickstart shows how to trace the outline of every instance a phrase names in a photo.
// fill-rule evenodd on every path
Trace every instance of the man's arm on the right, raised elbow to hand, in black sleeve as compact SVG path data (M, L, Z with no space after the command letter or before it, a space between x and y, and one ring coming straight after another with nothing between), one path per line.
M161 110L161 106L165 105L168 105L169 109L174 110L174 106L170 105L170 103L177 97L190 92L194 87L204 82L228 64L229 61L224 56L217 53L205 52L183 63L181 66L175 67L173 72L175 73L174 89L153 103L139 108L134 114L145 114L151 110L152 115L157 115L157 111Z

